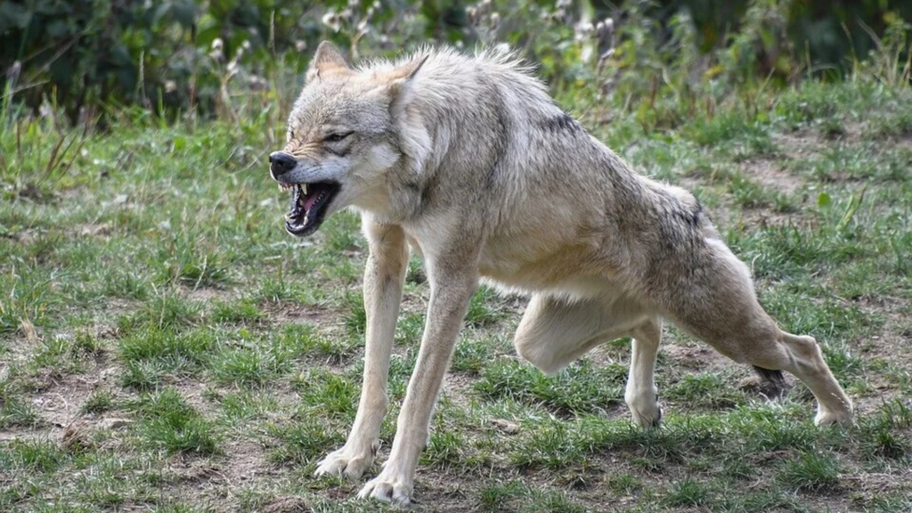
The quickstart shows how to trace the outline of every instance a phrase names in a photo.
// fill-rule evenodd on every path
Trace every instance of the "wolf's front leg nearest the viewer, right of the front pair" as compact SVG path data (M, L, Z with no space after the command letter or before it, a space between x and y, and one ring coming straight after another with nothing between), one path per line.
M430 266L430 305L421 349L409 390L399 413L396 438L379 476L361 488L358 497L408 504L421 450L427 444L430 415L447 372L456 338L478 287L474 269L440 272Z

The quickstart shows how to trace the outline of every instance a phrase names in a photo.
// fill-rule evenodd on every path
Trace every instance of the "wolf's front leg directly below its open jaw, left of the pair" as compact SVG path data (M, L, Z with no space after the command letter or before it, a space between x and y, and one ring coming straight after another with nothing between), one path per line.
M389 352L396 334L409 248L399 226L378 225L368 219L363 224L370 253L364 271L368 323L361 401L346 444L326 455L316 467L316 476L358 479L364 474L377 454L380 424L387 413Z

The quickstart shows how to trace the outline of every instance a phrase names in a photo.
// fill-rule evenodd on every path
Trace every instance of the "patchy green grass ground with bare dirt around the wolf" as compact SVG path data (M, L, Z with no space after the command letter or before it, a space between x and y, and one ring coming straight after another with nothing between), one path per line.
M664 426L644 432L623 400L628 340L546 377L513 351L523 299L481 288L412 508L912 510L912 91L805 81L663 129L586 88L562 98L638 170L699 196L763 306L818 340L860 413L818 429L803 385L768 401L742 382L748 369L669 327ZM390 510L353 498L356 483L311 476L344 443L360 393L358 217L285 235L268 116L121 118L35 194L12 179L19 157L0 168L0 510L281 511L292 498ZM22 158L41 169L54 129L23 123ZM16 144L3 125L0 152ZM429 292L412 257L371 475Z

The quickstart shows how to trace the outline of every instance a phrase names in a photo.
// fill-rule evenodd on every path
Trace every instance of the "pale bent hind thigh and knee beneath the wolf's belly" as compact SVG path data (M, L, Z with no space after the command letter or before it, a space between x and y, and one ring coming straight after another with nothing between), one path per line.
M554 375L596 345L627 335L645 317L632 304L538 294L525 309L513 345L525 361Z

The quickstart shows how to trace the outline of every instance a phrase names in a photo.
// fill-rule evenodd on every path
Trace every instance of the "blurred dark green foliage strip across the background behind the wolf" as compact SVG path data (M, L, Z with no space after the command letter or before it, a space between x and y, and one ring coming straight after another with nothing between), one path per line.
M558 91L597 79L661 118L657 96L699 84L840 75L890 30L905 52L910 18L896 0L0 0L0 70L17 105L71 120L133 104L236 115L233 99L293 86L323 38L354 57L506 42Z

